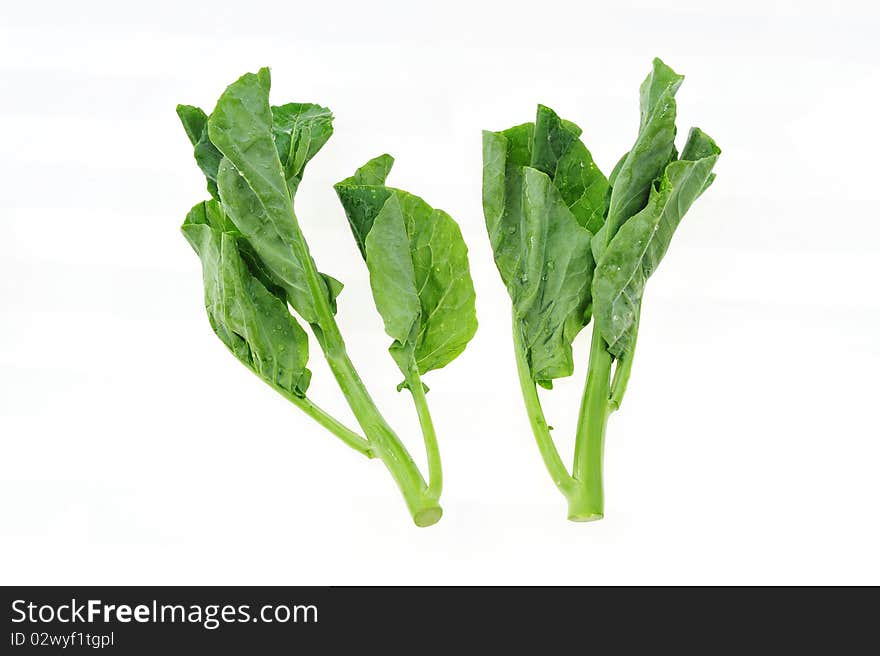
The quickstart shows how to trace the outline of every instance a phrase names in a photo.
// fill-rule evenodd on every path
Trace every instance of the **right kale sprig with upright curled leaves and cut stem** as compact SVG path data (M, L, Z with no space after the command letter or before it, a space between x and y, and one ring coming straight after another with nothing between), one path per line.
M520 387L532 431L569 519L604 515L602 453L609 415L632 367L645 283L684 213L714 180L721 151L694 128L678 155L675 92L683 77L659 59L640 89L633 147L610 177L581 130L542 105L534 123L483 133L483 211L513 303ZM569 473L538 387L574 371L572 342L595 317Z

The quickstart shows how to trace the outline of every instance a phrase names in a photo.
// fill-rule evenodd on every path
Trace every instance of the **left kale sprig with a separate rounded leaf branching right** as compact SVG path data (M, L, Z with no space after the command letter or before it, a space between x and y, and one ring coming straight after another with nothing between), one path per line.
M449 364L476 331L467 248L448 214L384 185L389 155L336 186L393 339L399 389L415 404L428 454L425 481L348 357L334 316L342 283L318 272L294 213L305 166L330 138L333 116L318 105L270 106L269 87L264 68L231 84L210 116L177 108L212 196L182 227L202 263L208 320L273 389L355 450L380 458L415 523L429 526L442 514L443 482L421 376ZM363 435L308 398L309 339L291 308L309 325Z

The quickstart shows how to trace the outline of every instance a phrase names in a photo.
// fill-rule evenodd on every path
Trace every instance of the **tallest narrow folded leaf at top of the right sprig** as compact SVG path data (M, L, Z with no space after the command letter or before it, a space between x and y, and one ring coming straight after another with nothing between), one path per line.
M640 87L639 134L615 176L604 232L604 244L648 201L651 184L674 159L675 92L684 76L659 59ZM601 254L602 246L596 250Z

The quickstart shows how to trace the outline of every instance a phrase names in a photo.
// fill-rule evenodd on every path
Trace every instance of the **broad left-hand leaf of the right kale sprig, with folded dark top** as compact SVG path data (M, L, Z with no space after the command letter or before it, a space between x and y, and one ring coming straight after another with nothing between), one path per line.
M602 225L608 195L580 133L542 105L534 125L483 133L486 228L544 387L574 369L571 342L589 322L590 226Z

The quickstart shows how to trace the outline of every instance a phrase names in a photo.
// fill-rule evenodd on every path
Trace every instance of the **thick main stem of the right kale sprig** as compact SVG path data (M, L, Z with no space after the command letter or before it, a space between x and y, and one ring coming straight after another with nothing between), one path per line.
M609 403L611 355L596 327L590 346L590 366L578 416L574 447L576 491L568 498L568 518L576 522L602 519L605 514L602 488L602 457Z

